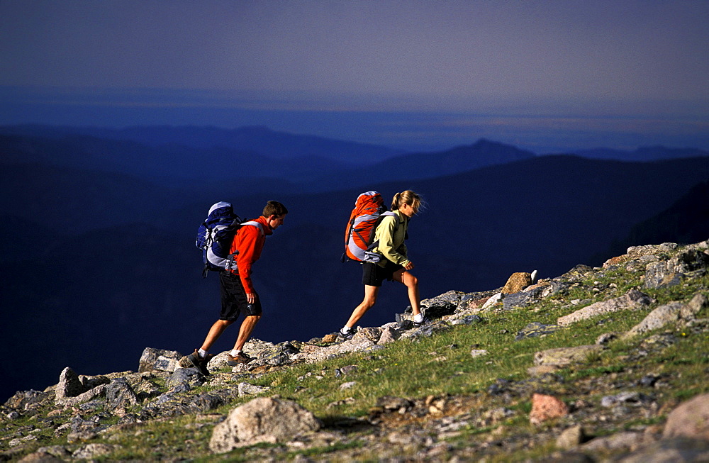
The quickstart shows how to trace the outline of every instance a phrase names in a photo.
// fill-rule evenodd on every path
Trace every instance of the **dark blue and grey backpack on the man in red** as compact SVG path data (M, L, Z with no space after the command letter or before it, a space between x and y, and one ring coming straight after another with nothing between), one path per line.
M242 222L241 218L234 213L231 203L219 201L209 208L207 218L197 229L195 242L196 247L202 250L203 278L207 277L210 270L220 272L224 269L236 268L234 261L238 252L229 251L234 235L242 225L253 225L263 232L257 222Z

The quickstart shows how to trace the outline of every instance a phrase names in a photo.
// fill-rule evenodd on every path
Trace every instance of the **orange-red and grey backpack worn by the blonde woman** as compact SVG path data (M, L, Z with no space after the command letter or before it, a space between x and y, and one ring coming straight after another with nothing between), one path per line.
M384 211L386 207L379 191L367 191L357 196L350 221L347 222L345 229L345 253L342 255L342 262L370 260L365 255L374 247L372 240L374 240L376 225L379 225L382 217L393 215L391 212Z

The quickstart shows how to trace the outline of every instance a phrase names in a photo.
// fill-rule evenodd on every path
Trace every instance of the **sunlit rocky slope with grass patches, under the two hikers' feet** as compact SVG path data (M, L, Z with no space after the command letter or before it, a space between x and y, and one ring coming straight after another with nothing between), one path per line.
M238 455L274 461L708 461L708 270L709 241L631 247L601 268L579 265L541 281L518 272L497 290L427 299L422 305L433 321L421 328L413 327L409 308L392 323L359 328L352 340L325 335L274 345L253 339L245 350L254 362L231 368L222 352L209 363L208 376L189 368L181 353L150 347L137 372L84 376L67 367L55 386L18 392L0 406L6 429L0 459L176 461L245 452ZM563 315L554 323L549 316L535 320L545 313ZM329 376L341 383L340 391L356 391L358 375L369 372L348 363L353 358L376 359L391 345L423 345L513 316L526 324L498 334L518 343L561 338L613 317L635 316L639 323L622 333L601 333L592 344L538 350L523 377L501 376L465 393L381 395L360 404L368 408L360 416L318 417L298 403L298 394L311 388L295 386L284 398L279 381L263 384L304 365L342 359L334 369L308 367L296 383ZM686 342L693 357L667 354ZM502 355L480 347L488 346L473 345L469 359L492 364ZM459 350L454 343L448 348ZM429 353L430 362L442 366L453 355ZM667 392L681 383L657 368L666 361L663 355L703 375L679 394L683 401ZM353 392L325 410L358 400ZM160 426L171 432L184 427L192 437L179 447L150 442L147 437ZM150 447L150 457L126 457L131 439Z

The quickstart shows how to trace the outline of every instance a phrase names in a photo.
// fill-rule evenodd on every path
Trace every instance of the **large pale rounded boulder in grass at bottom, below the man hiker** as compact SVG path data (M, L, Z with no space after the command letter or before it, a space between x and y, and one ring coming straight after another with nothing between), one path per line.
M320 420L296 402L259 397L234 408L216 425L209 448L223 453L258 442L287 442L321 427Z

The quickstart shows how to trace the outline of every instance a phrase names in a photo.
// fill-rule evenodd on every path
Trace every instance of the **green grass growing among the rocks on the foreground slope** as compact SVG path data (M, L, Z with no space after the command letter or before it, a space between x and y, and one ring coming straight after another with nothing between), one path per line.
M706 333L692 333L683 327L666 326L660 332L669 331L676 335L678 341L664 350L649 350L647 355L638 357L635 353L647 336L627 342L615 340L601 355L589 357L585 364L568 367L559 372L563 381L531 384L520 394L511 396L494 396L487 392L497 379L528 379L527 368L532 366L535 352L554 347L593 344L603 333L623 333L629 330L662 303L688 301L696 292L704 291L706 294L709 289L709 275L706 274L681 286L657 290L642 289L641 277L642 271L597 271L588 279L579 280L565 294L552 296L534 306L514 311L493 310L481 313L484 318L481 323L454 326L450 330L417 342L394 342L387 345L386 349L373 354L353 354L317 364L298 364L274 369L254 379L246 379L252 384L269 386L271 389L267 395L279 394L297 401L323 420L326 431L345 430L346 438L335 439L329 445L316 445L303 450L286 445L262 444L235 450L224 456L215 456L208 451L208 441L215 423L215 417L212 415L186 415L133 425L125 431L99 437L95 442L121 446L120 450L110 455L110 459L189 458L246 461L266 457L289 459L297 454L335 461L352 458L376 459L381 457L381 454L373 454L368 448L368 442L377 439L372 437L376 433L375 428L358 426L357 423L364 422L363 418L367 417L378 398L400 396L423 400L427 396L456 396L459 399L457 403L463 404L463 408L448 411L450 415L468 413L478 416L483 411L501 406L509 408L514 414L494 425L464 426L458 433L445 439L450 447L446 450L447 453L441 455L441 459L451 454L479 457L480 454L475 452L480 452L483 448L480 447L482 442L489 442L491 439L515 442L515 436L517 440L526 442L531 442L532 436L536 436L536 443L510 445L505 447L505 450L485 450L491 461L537 459L553 450L552 437L558 435L559 430L554 430L554 425L559 423L537 427L529 424L528 412L533 391L554 394L569 404L581 399L590 404L588 407L596 410L598 414L603 413L598 406L603 396L618 394L621 389L647 391L637 386L637 381L647 374L659 375L668 383L661 389L651 391L659 404L657 411L644 417L636 414L630 419L618 422L610 420L608 423L594 423L593 420L586 420L584 428L591 435L605 435L618 430L662 423L666 414L677 403L709 391L706 381L709 339ZM594 287L605 289L594 291ZM621 296L632 287L640 287L642 291L657 299L657 303L644 311L605 314L540 338L514 340L515 334L528 323L555 323L557 317L571 313L586 303ZM570 301L577 299L585 301L579 306L573 306ZM700 314L700 317L702 316L707 317L708 314ZM473 358L470 355L471 349L488 350L489 355ZM344 377L335 376L335 369L350 364L357 365L356 372ZM340 385L346 381L357 383L350 389L340 390ZM618 384L623 385L621 389L615 389ZM208 389L208 386L203 386L190 394L199 394ZM240 402L223 407L215 413L228 413L234 406L248 400L250 398L242 398ZM337 401L342 403L330 405ZM581 413L576 415L572 413L571 417L564 418L566 421L562 425L584 420ZM434 415L420 420L402 418L401 422L390 419L385 425L389 428L418 425L426 429L427 420L433 418ZM11 426L13 429L30 424L39 427L40 420L39 416L23 418L11 422ZM41 445L66 445L65 437L55 439L51 434L48 433ZM27 452L39 446L33 444L28 447Z

